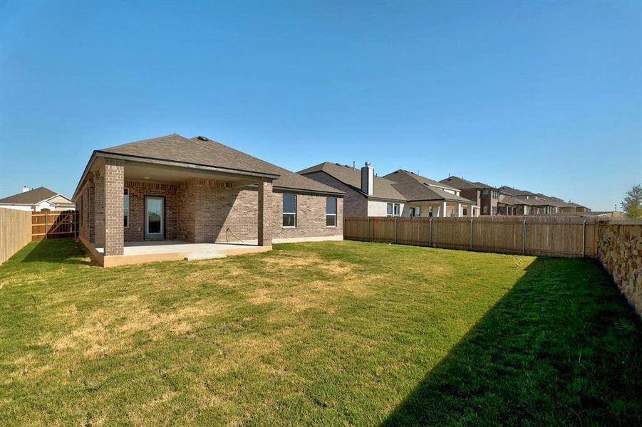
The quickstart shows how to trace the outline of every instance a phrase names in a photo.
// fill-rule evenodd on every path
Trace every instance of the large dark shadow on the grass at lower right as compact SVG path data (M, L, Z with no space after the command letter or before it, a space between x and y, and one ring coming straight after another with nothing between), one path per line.
M641 421L632 307L594 260L537 258L383 425Z

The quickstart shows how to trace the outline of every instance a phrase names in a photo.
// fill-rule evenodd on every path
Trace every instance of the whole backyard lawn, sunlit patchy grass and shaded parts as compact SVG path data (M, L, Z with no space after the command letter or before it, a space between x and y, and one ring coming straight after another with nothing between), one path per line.
M634 425L642 323L593 260L378 243L0 266L0 423Z

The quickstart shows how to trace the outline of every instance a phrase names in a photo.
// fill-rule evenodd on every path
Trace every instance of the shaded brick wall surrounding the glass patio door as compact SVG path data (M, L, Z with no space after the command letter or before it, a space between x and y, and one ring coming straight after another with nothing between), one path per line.
M176 240L178 236L177 184L125 181L125 187L129 189L129 226L125 228L125 241L145 240L145 196L165 197L165 238Z

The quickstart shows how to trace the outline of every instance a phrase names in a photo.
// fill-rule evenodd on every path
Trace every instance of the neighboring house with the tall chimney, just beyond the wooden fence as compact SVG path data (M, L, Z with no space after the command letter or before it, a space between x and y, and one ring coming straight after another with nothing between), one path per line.
M406 199L394 181L375 175L369 163L361 169L324 162L299 174L346 193L344 216L400 216Z

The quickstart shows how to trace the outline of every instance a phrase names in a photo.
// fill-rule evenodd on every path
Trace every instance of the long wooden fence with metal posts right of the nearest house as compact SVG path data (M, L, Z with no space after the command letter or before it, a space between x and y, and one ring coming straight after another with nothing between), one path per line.
M570 216L347 217L348 240L547 256L596 255L596 220Z

